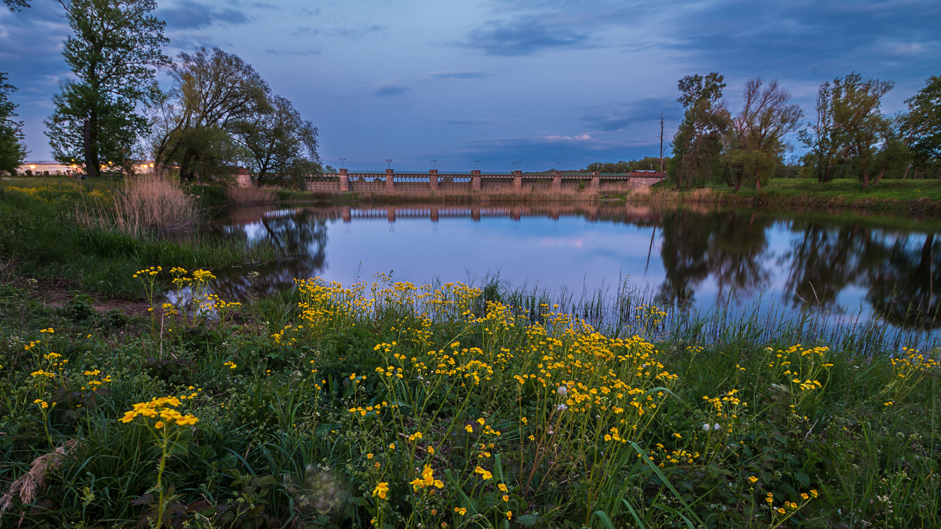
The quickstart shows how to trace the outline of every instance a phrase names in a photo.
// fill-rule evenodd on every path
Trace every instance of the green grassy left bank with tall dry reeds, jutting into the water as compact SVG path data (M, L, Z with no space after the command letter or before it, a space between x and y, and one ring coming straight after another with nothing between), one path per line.
M107 204L118 184L104 179L0 182L0 256L6 268L66 290L138 297L131 276L141 263L217 268L279 258L276 248L202 240L191 233L132 236L77 221L86 206ZM9 273L9 270L8 270Z

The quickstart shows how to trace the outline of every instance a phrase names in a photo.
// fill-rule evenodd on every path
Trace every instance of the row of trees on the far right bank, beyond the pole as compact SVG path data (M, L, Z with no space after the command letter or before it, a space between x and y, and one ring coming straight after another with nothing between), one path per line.
M815 113L805 121L799 105L775 79L749 79L742 88L742 108L728 109L725 78L718 72L688 75L678 82L683 120L673 138L668 174L677 189L722 180L738 191L789 173L784 155L793 151L787 138L796 133L805 146L800 174L825 183L854 177L863 187L884 177L941 177L941 77L905 100L906 110L881 111L892 81L858 73L823 83Z

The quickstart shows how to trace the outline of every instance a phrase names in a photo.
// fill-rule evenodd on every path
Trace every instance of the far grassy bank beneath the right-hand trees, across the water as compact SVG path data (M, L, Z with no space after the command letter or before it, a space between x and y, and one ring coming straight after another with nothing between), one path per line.
M914 210L936 214L941 203L941 181L884 180L863 189L856 180L834 180L826 184L796 178L778 178L763 185L735 192L726 184L714 184L690 192L673 191L674 184L655 184L653 193L634 193L628 200L714 201L727 205L780 205L812 207L854 207L871 209Z

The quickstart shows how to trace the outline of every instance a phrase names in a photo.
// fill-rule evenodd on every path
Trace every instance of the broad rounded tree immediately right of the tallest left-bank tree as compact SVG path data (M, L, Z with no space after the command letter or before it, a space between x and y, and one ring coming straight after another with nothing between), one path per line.
M162 174L176 164L185 180L225 176L245 156L231 132L269 111L270 88L245 61L218 48L179 57L170 72L173 88L152 112L154 165Z

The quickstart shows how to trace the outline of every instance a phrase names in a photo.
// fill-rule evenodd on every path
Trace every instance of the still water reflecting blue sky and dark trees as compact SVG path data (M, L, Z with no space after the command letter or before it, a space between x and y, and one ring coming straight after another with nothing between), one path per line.
M901 328L941 325L939 222L845 210L638 206L299 205L241 207L209 230L293 256L216 275L224 298L265 296L295 278L349 284L482 281L593 297L618 286L700 309L805 304Z

